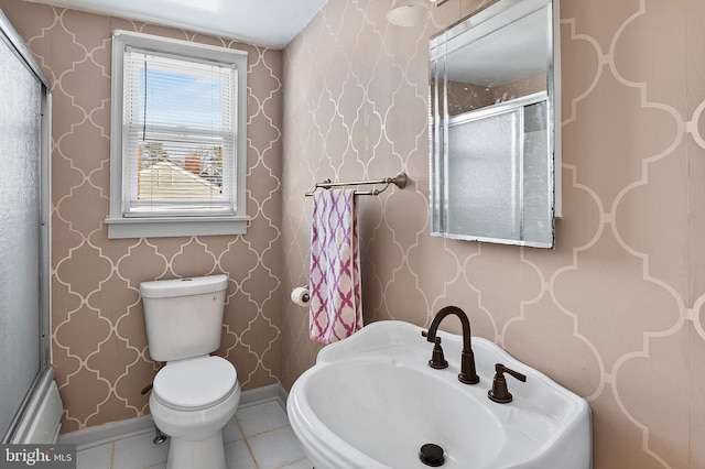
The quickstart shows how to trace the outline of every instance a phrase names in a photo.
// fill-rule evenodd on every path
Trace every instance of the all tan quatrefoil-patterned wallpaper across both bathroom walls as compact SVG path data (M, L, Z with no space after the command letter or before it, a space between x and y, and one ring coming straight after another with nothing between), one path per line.
M20 0L0 8L52 81L53 355L64 432L149 412L137 288L230 276L224 345L246 389L289 389L315 361L307 312L318 181L393 176L359 199L366 321L427 325L454 304L473 331L588 400L594 467L705 467L705 1L562 0L563 218L555 250L429 236L427 39L391 0L329 0L284 51ZM110 31L249 53L245 237L107 240ZM459 330L457 325L452 328Z

